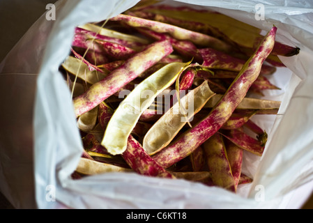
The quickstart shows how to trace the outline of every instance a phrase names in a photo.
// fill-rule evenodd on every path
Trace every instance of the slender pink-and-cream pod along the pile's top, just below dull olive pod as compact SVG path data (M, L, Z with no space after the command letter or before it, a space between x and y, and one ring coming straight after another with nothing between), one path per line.
M148 28L158 33L169 33L172 37L176 38L176 40L190 40L196 45L213 47L222 52L234 52L234 47L227 43L224 43L222 40L219 40L212 36L208 36L203 33L198 33L195 31L190 31L188 29L183 29L178 26L173 26L171 24L166 24L153 20L145 20L139 17L123 14L117 15L110 20L125 22L126 24L133 27Z

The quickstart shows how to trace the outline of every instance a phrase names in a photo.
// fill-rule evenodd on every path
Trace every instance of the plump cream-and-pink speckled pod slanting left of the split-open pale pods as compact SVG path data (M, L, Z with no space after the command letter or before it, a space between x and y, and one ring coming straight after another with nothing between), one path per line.
M122 66L113 70L110 75L74 98L75 115L80 116L90 111L171 52L173 47L168 40L148 45L142 52L135 54Z

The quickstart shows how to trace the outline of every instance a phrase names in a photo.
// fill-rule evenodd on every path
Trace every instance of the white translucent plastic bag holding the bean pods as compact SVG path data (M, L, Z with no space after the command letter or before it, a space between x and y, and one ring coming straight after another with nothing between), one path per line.
M56 3L56 21L47 21L43 15L1 63L1 91L20 87L17 97L25 97L15 99L11 90L9 99L0 98L1 105L6 105L1 118L8 118L1 129L0 180L6 182L1 183L1 191L17 208L299 208L303 201L290 203L290 197L298 190L302 193L300 186L313 178L313 7L302 2L275 1L273 5L267 1L165 1L192 2L190 6L196 8L208 6L265 31L275 24L277 40L301 49L297 56L281 58L291 71L278 70L273 78L282 91L266 95L281 99L282 107L279 115L261 120L269 133L262 158L245 154L243 168L253 176L252 184L234 194L185 180L130 173L70 178L83 148L59 65L70 52L75 26L113 17L137 2L60 0ZM265 21L255 20L257 3L265 6ZM39 75L37 78L31 74ZM36 93L29 91L35 84ZM20 128L10 126L13 120L13 124L19 124L13 126ZM21 144L21 137L27 143ZM306 198L310 192L301 196Z

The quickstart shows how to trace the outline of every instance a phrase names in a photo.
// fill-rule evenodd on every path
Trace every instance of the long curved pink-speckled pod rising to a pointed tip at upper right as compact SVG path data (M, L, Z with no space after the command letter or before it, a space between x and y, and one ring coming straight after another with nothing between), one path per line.
M264 60L270 54L275 43L277 27L273 27L257 51L247 61L238 77L229 86L227 92L222 96L219 102L213 107L211 112L190 130L181 134L181 136L173 141L169 146L163 148L162 151L153 155L153 158L162 165L162 167L170 167L174 163L182 160L190 155L192 151L201 146L215 132L220 130L222 125L233 114L236 107L241 103L247 91L253 82L259 77L261 66Z

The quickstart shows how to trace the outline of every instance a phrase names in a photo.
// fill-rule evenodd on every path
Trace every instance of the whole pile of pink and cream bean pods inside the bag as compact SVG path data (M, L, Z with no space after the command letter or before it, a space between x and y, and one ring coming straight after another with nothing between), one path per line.
M143 2L143 3L142 3ZM129 171L236 192L252 182L243 151L261 156L267 134L252 121L277 114L268 77L298 47L211 10L137 6L75 28L61 64L84 153L73 178Z

